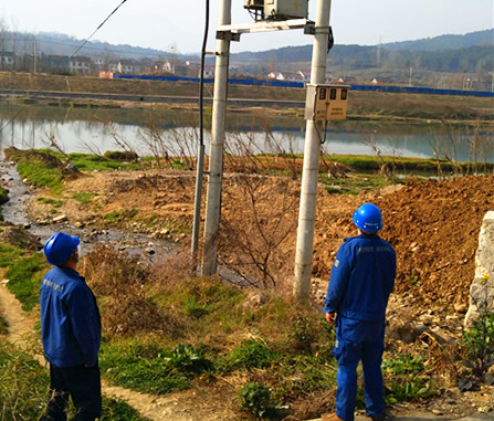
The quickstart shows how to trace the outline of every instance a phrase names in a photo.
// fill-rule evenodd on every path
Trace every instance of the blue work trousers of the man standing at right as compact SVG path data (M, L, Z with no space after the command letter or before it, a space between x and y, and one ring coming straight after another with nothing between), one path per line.
M333 354L338 361L336 372L336 414L354 421L357 396L357 365L361 360L367 417L379 417L385 410L382 351L385 320L355 320L338 315L336 345Z

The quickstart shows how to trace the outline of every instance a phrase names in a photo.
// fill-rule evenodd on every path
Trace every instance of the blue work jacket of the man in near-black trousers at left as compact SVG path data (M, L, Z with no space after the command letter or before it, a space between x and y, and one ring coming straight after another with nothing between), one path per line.
M46 360L56 367L97 364L102 324L96 298L77 272L55 266L40 288L41 336Z

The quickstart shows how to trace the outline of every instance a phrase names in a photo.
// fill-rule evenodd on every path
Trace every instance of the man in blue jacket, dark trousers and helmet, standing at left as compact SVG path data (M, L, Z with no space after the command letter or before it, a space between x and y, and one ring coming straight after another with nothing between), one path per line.
M76 271L80 239L63 232L44 245L50 270L41 281L41 336L50 362L50 400L43 421L65 421L69 398L75 421L101 417L98 350L102 324L96 298Z

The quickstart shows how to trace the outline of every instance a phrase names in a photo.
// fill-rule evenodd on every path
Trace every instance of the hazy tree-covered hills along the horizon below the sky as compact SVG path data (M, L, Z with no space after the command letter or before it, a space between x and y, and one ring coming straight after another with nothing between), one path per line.
M82 45L78 40L60 33L12 33L2 32L3 51L17 54L41 54L70 56ZM15 40L15 42L13 42ZM336 40L337 41L337 40ZM114 45L90 41L77 55L105 56L108 59L143 59L186 61L199 59L199 54L176 54L155 49L133 45ZM307 71L312 60L312 44L285 46L261 52L242 52L231 55L230 63L243 75L265 77L269 71ZM208 64L214 57L208 56ZM474 73L494 69L494 29L467 33L465 35L441 35L417 41L403 41L380 45L335 44L328 54L328 69L340 73L380 69L428 72ZM381 73L382 76L382 73ZM366 75L367 77L367 75Z

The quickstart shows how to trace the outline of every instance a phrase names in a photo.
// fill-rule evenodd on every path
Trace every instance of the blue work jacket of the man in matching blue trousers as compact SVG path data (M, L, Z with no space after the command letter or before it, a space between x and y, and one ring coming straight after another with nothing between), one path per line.
M325 313L357 320L383 320L396 272L396 252L379 235L345 239L333 264Z

